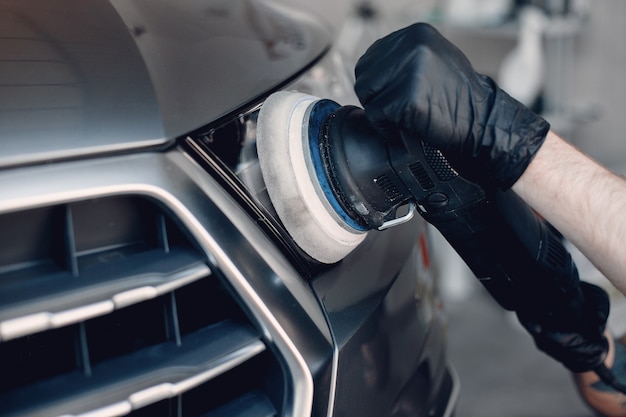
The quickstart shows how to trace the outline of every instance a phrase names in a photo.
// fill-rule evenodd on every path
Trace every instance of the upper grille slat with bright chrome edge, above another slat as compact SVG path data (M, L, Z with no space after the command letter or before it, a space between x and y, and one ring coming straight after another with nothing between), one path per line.
M118 264L115 270L98 271L89 280L70 279L52 288L16 285L17 288L3 290L0 296L0 340L108 314L160 296L209 273L208 266L189 252L172 252L168 256L144 253ZM80 297L76 296L77 291Z

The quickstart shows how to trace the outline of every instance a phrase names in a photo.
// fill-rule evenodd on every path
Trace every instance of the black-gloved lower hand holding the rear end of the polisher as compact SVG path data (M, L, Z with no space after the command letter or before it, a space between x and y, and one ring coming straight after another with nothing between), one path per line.
M579 296L567 303L547 310L528 305L516 313L537 348L570 371L591 371L604 362L609 298L601 288L580 282Z

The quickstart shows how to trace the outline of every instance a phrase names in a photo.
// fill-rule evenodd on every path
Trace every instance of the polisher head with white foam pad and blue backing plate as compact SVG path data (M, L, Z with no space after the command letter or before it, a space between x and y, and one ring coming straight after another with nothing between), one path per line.
M369 230L398 220L411 194L389 163L386 142L356 106L283 91L261 107L257 151L268 194L312 258L337 262Z

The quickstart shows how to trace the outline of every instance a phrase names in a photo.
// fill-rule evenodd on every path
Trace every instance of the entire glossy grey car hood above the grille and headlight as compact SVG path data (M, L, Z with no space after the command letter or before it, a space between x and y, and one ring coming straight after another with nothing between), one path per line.
M294 77L329 26L266 0L0 5L0 167L166 145Z

